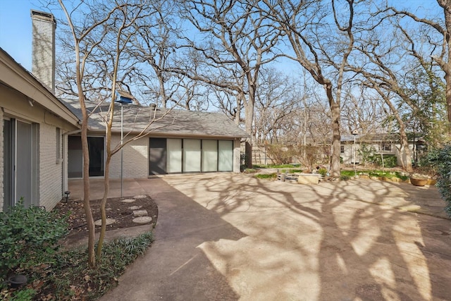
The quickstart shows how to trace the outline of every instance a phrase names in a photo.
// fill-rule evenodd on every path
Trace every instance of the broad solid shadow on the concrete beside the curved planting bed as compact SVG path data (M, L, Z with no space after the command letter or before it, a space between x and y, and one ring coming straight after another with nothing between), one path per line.
M163 180L136 179L159 206L155 242L102 300L237 300L239 295L198 246L244 235Z

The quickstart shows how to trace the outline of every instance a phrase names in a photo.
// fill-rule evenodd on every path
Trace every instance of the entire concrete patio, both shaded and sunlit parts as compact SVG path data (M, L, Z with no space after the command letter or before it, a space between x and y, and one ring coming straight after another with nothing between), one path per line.
M435 187L211 173L124 188L159 205L156 241L102 300L450 299L451 222Z

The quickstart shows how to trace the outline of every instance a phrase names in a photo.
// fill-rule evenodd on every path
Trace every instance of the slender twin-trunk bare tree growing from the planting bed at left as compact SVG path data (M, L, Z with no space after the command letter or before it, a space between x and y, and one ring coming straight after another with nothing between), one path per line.
M86 109L86 102L89 98L91 100L96 99L99 101L98 106L100 106L101 102L111 97L109 109L104 117L107 157L104 179L105 190L101 201L101 235L97 247L97 255L100 256L106 227L105 204L109 193L109 162L118 148L125 145L121 144L114 149L111 147L116 85L120 82L118 70L127 73L128 67L131 67L126 56L127 52L124 49L129 46L131 37L135 35L136 27L133 25L137 19L146 18L149 14L152 14L152 11L147 9L146 1L124 0L116 1L114 4L108 3L108 5L101 4L98 1L84 1L78 6L66 7L62 0L58 0L58 4L66 16L70 37L73 38L72 49L75 56L75 66L73 67L75 68L74 82L76 88L71 88L69 91L78 96L82 111L83 202L89 229L88 262L90 266L95 266L95 229L89 198L89 152L87 145L89 112ZM140 135L143 135L144 132Z

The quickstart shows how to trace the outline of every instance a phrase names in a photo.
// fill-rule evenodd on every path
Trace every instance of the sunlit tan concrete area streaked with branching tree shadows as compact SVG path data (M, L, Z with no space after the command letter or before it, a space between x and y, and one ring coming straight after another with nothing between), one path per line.
M306 186L231 174L168 182L245 234L201 245L243 299L451 295L450 221L426 210L440 202L435 188L370 180Z

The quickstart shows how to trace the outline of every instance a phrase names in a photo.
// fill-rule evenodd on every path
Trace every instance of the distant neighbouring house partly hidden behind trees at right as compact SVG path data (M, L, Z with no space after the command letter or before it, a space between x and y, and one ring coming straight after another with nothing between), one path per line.
M354 138L355 138L355 163L361 163L359 156L360 145L366 144L369 147L374 147L377 154L383 156L396 156L397 164L402 165L402 156L404 152L400 152L400 137L396 134L378 133L372 135L342 135L340 157L343 164L354 164ZM415 144L415 147L414 147ZM420 149L423 142L421 140L409 141L409 149ZM412 152L412 160L414 153Z

